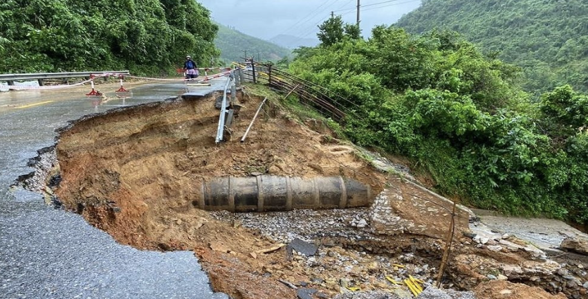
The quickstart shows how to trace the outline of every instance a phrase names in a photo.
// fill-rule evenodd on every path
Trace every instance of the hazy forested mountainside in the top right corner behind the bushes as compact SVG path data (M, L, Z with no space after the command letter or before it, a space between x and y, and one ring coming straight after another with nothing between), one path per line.
M397 23L411 33L455 30L524 69L524 88L588 91L588 1L424 0Z

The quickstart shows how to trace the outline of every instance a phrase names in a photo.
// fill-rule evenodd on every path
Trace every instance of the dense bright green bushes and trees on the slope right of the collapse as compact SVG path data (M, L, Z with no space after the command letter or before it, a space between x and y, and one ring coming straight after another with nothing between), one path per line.
M351 141L411 158L472 206L588 223L587 96L564 86L532 101L520 68L457 33L380 26L366 41L338 26L290 71L349 100Z

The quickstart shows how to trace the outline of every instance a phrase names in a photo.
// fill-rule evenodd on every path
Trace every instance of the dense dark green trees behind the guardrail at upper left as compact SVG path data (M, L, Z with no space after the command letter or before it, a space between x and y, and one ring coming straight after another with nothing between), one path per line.
M2 0L0 73L167 73L217 57L217 26L193 0Z

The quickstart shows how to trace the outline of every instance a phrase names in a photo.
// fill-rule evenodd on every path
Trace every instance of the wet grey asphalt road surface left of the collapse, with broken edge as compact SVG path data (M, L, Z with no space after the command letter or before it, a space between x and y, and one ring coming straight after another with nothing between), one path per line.
M216 80L211 89L224 82ZM0 93L0 298L227 298L211 291L192 252L138 251L117 244L79 215L47 206L42 195L10 190L19 175L32 171L26 163L37 156L37 149L53 145L57 127L123 104L114 98L96 106L98 102L84 96L88 91ZM187 90L183 83L172 83L132 91L134 97L125 105L164 100ZM35 102L45 103L24 106Z

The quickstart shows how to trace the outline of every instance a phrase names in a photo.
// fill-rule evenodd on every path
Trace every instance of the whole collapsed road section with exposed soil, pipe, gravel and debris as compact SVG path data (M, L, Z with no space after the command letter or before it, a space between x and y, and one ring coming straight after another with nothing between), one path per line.
M374 166L381 161L275 99L239 143L232 136L246 131L263 100L239 91L241 109L217 145L219 96L71 123L60 131L46 192L122 244L194 251L215 291L232 298L445 298L430 286L452 223L443 286L475 294L443 296L586 295L584 278L569 265L516 237L472 239L468 209L453 212L451 201L409 175L381 171ZM374 296L360 297L366 291Z

